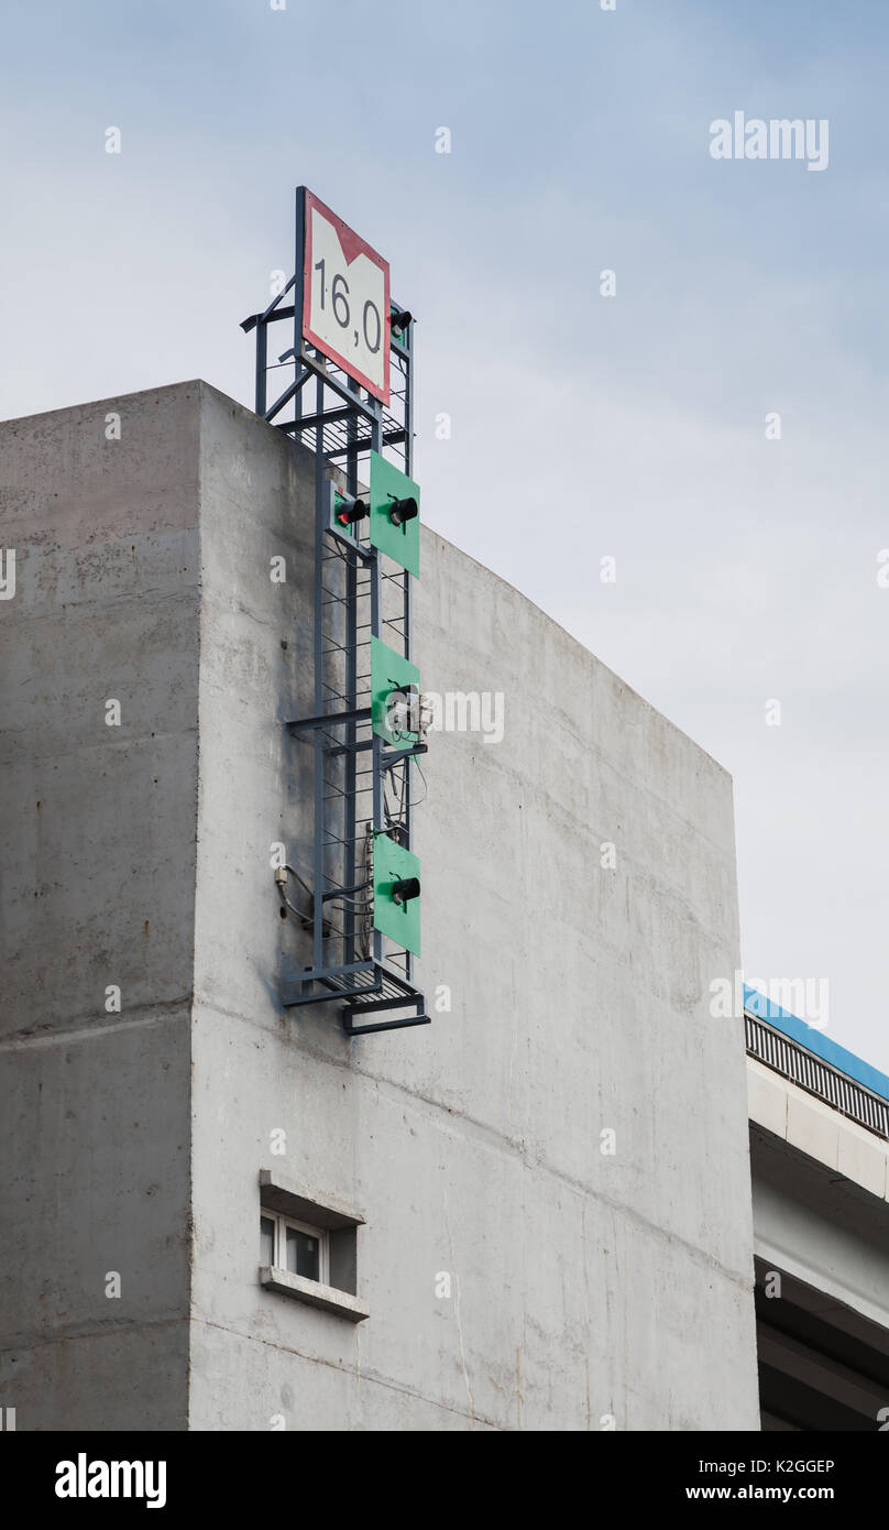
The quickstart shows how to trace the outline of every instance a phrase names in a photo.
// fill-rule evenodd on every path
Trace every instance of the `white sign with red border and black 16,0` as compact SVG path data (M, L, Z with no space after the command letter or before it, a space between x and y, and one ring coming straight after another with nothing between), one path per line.
M300 190L303 338L389 404L389 262L317 196Z

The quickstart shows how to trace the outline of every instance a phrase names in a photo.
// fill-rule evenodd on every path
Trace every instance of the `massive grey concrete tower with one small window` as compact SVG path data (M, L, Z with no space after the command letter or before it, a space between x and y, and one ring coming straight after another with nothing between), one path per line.
M812 1334L765 1333L754 1258L886 1354L886 1140L710 1013L739 968L727 773L430 529L424 685L505 699L502 739L438 731L424 767L431 1025L282 1007L312 474L199 381L0 425L0 1405L757 1431L757 1320L782 1374Z

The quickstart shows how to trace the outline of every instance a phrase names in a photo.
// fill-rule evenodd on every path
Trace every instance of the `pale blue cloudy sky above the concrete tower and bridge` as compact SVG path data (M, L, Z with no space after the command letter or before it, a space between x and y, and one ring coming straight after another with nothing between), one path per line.
M731 773L748 981L826 981L889 1071L884 0L0 28L0 418L194 376L252 404L239 321L309 185L418 317L424 519ZM736 112L826 122L826 167L713 158Z

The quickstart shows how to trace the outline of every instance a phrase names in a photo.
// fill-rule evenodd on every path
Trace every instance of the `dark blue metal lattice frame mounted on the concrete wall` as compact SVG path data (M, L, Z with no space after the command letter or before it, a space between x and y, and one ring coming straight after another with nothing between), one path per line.
M373 926L372 845L389 832L412 845L412 768L422 744L387 745L372 727L370 640L410 659L412 577L361 534L340 526L337 470L346 500L369 479L370 451L390 453L405 474L413 462L413 321L390 332L390 405L363 390L303 340L304 188L297 191L295 271L262 314L242 323L256 330L256 413L315 454L314 702L286 724L314 757L314 848L311 883L295 868L308 907L295 909L312 935L312 959L285 988L285 1005L343 1001L347 1034L428 1025L413 984L413 956ZM292 303L286 295L292 292ZM392 304L392 315L405 314ZM294 321L294 344L269 363L269 329ZM396 324L398 327L398 324ZM269 402L275 376L286 384ZM314 399L312 399L314 395ZM306 410L306 399L314 407ZM364 474L363 474L364 468Z

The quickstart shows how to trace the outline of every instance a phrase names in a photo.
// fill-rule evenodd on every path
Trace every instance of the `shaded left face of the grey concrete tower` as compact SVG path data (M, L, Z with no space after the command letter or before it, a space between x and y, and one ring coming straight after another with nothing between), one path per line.
M20 1431L187 1418L197 396L0 425L0 1403Z

